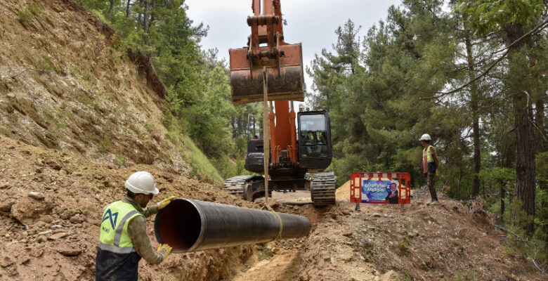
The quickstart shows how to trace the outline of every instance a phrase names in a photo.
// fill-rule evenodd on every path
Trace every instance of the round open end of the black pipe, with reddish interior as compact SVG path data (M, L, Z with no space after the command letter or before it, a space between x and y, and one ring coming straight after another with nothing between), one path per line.
M158 242L169 244L173 252L182 252L193 247L200 237L202 218L192 203L176 199L159 211L154 227Z

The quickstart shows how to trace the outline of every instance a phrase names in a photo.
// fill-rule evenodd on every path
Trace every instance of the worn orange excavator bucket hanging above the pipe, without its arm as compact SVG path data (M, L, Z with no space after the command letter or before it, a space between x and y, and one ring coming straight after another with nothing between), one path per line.
M264 47L266 48L266 47ZM261 48L263 49L263 48ZM268 74L268 100L304 101L301 44L279 46L285 56L278 63L250 65L247 48L230 49L230 88L235 105L263 101L263 67ZM262 50L261 50L262 51Z

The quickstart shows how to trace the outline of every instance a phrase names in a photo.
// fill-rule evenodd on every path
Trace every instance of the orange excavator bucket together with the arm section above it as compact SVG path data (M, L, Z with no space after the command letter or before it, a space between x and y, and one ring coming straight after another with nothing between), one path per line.
M284 41L280 0L252 0L252 9L254 15L247 17L252 30L247 47L228 51L233 103L263 100L263 67L268 100L304 101L303 51L301 44Z

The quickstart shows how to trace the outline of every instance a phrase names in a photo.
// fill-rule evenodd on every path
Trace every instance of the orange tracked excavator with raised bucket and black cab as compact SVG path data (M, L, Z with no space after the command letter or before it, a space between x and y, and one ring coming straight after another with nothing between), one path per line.
M330 117L293 108L304 101L302 46L284 40L280 0L252 0L252 11L247 46L229 50L230 88L234 105L264 103L264 139L247 143L244 168L256 175L228 178L223 189L250 201L272 190L310 190L315 206L334 204L336 177L322 172L332 160Z

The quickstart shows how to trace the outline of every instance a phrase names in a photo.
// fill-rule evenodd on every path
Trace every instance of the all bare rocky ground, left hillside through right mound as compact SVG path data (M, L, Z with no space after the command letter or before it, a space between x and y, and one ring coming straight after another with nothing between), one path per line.
M93 280L102 209L134 171L157 179L151 204L176 195L263 207L188 176L155 74L130 57L73 1L0 1L0 280ZM323 208L306 204L308 192L274 192L275 210L310 219L307 237L141 261L140 280L547 280L505 246L481 200L426 206L415 190L403 214L357 212L348 188Z

